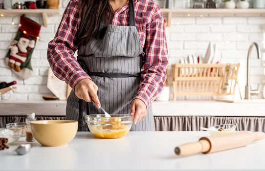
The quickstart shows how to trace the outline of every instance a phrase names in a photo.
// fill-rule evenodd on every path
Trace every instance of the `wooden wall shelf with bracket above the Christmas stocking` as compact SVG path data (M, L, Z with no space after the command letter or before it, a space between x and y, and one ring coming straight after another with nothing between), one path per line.
M60 14L59 9L0 9L0 15L40 14L43 17L44 27L47 27L48 15Z

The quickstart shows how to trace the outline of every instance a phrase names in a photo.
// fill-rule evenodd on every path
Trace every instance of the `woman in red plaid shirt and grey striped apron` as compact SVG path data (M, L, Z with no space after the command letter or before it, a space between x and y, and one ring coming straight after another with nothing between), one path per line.
M153 0L70 0L47 58L74 90L66 119L79 121L79 131L87 129L85 116L102 113L101 106L133 115L132 131L155 130L151 102L166 80L168 52Z

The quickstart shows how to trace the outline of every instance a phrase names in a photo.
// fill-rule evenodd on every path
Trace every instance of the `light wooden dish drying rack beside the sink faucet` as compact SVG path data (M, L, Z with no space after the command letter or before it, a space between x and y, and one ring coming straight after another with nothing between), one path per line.
M174 96L234 95L240 64L173 64Z

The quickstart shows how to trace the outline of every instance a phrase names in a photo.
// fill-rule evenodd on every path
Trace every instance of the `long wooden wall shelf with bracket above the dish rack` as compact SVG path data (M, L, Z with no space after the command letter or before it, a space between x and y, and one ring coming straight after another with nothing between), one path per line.
M165 18L167 17L168 26L171 25L172 15L261 15L265 14L265 9L161 9Z

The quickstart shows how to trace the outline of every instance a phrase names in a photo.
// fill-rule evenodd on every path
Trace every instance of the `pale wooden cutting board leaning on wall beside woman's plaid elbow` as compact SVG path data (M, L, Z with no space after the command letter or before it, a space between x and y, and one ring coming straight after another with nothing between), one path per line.
M60 100L66 100L72 90L70 86L53 74L51 68L48 70L47 87Z

